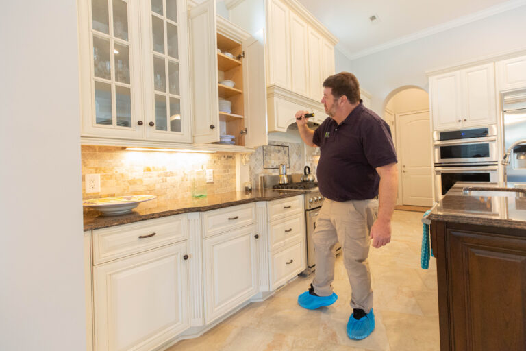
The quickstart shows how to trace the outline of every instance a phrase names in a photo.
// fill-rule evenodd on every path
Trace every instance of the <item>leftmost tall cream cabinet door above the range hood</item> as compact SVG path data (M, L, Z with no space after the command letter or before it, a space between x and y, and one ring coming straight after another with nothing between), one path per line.
M267 85L276 84L290 89L289 12L281 1L268 1Z

